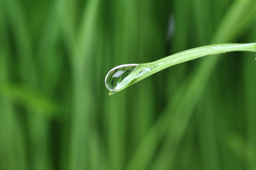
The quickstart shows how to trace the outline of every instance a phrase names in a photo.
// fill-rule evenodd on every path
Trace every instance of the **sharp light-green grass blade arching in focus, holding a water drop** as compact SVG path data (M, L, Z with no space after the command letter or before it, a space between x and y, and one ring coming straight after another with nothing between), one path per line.
M149 77L156 72L160 72L162 69L166 69L167 67L171 67L175 64L180 64L182 62L188 62L190 60L195 60L200 57L204 57L206 55L217 55L226 52L234 52L234 51L247 51L247 52L256 52L256 42L246 43L246 44L238 44L238 43L229 43L229 44L218 44L218 45L206 45L203 47L196 47L191 50L186 50L184 52L179 52L174 55L170 55L168 57L162 58L155 62L149 62L145 64L138 64L135 69L133 69L130 74L128 74L124 79L116 84L116 88L112 89L109 92L109 95L115 94L118 91L126 89L128 86L137 83L138 81ZM118 72L118 69L123 69L124 67L129 67L129 64L121 65L120 67L115 67L116 69L111 69L108 74L115 71ZM105 83L106 86L108 82L113 80L113 77L108 77L106 75ZM115 74L114 74L115 75ZM121 75L119 75L120 77ZM114 78L116 78L115 76Z

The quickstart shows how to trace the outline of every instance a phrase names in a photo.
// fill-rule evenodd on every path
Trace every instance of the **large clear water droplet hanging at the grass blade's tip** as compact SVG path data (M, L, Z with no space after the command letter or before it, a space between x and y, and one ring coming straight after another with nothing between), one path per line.
M133 72L133 70L138 66L138 64L123 64L118 67L111 69L108 74L106 74L105 85L109 91L118 91L123 86L126 86L133 79L126 79L128 75ZM124 81L126 79L126 81ZM122 82L123 81L123 82ZM122 82L122 84L121 84ZM120 85L121 86L118 86Z

